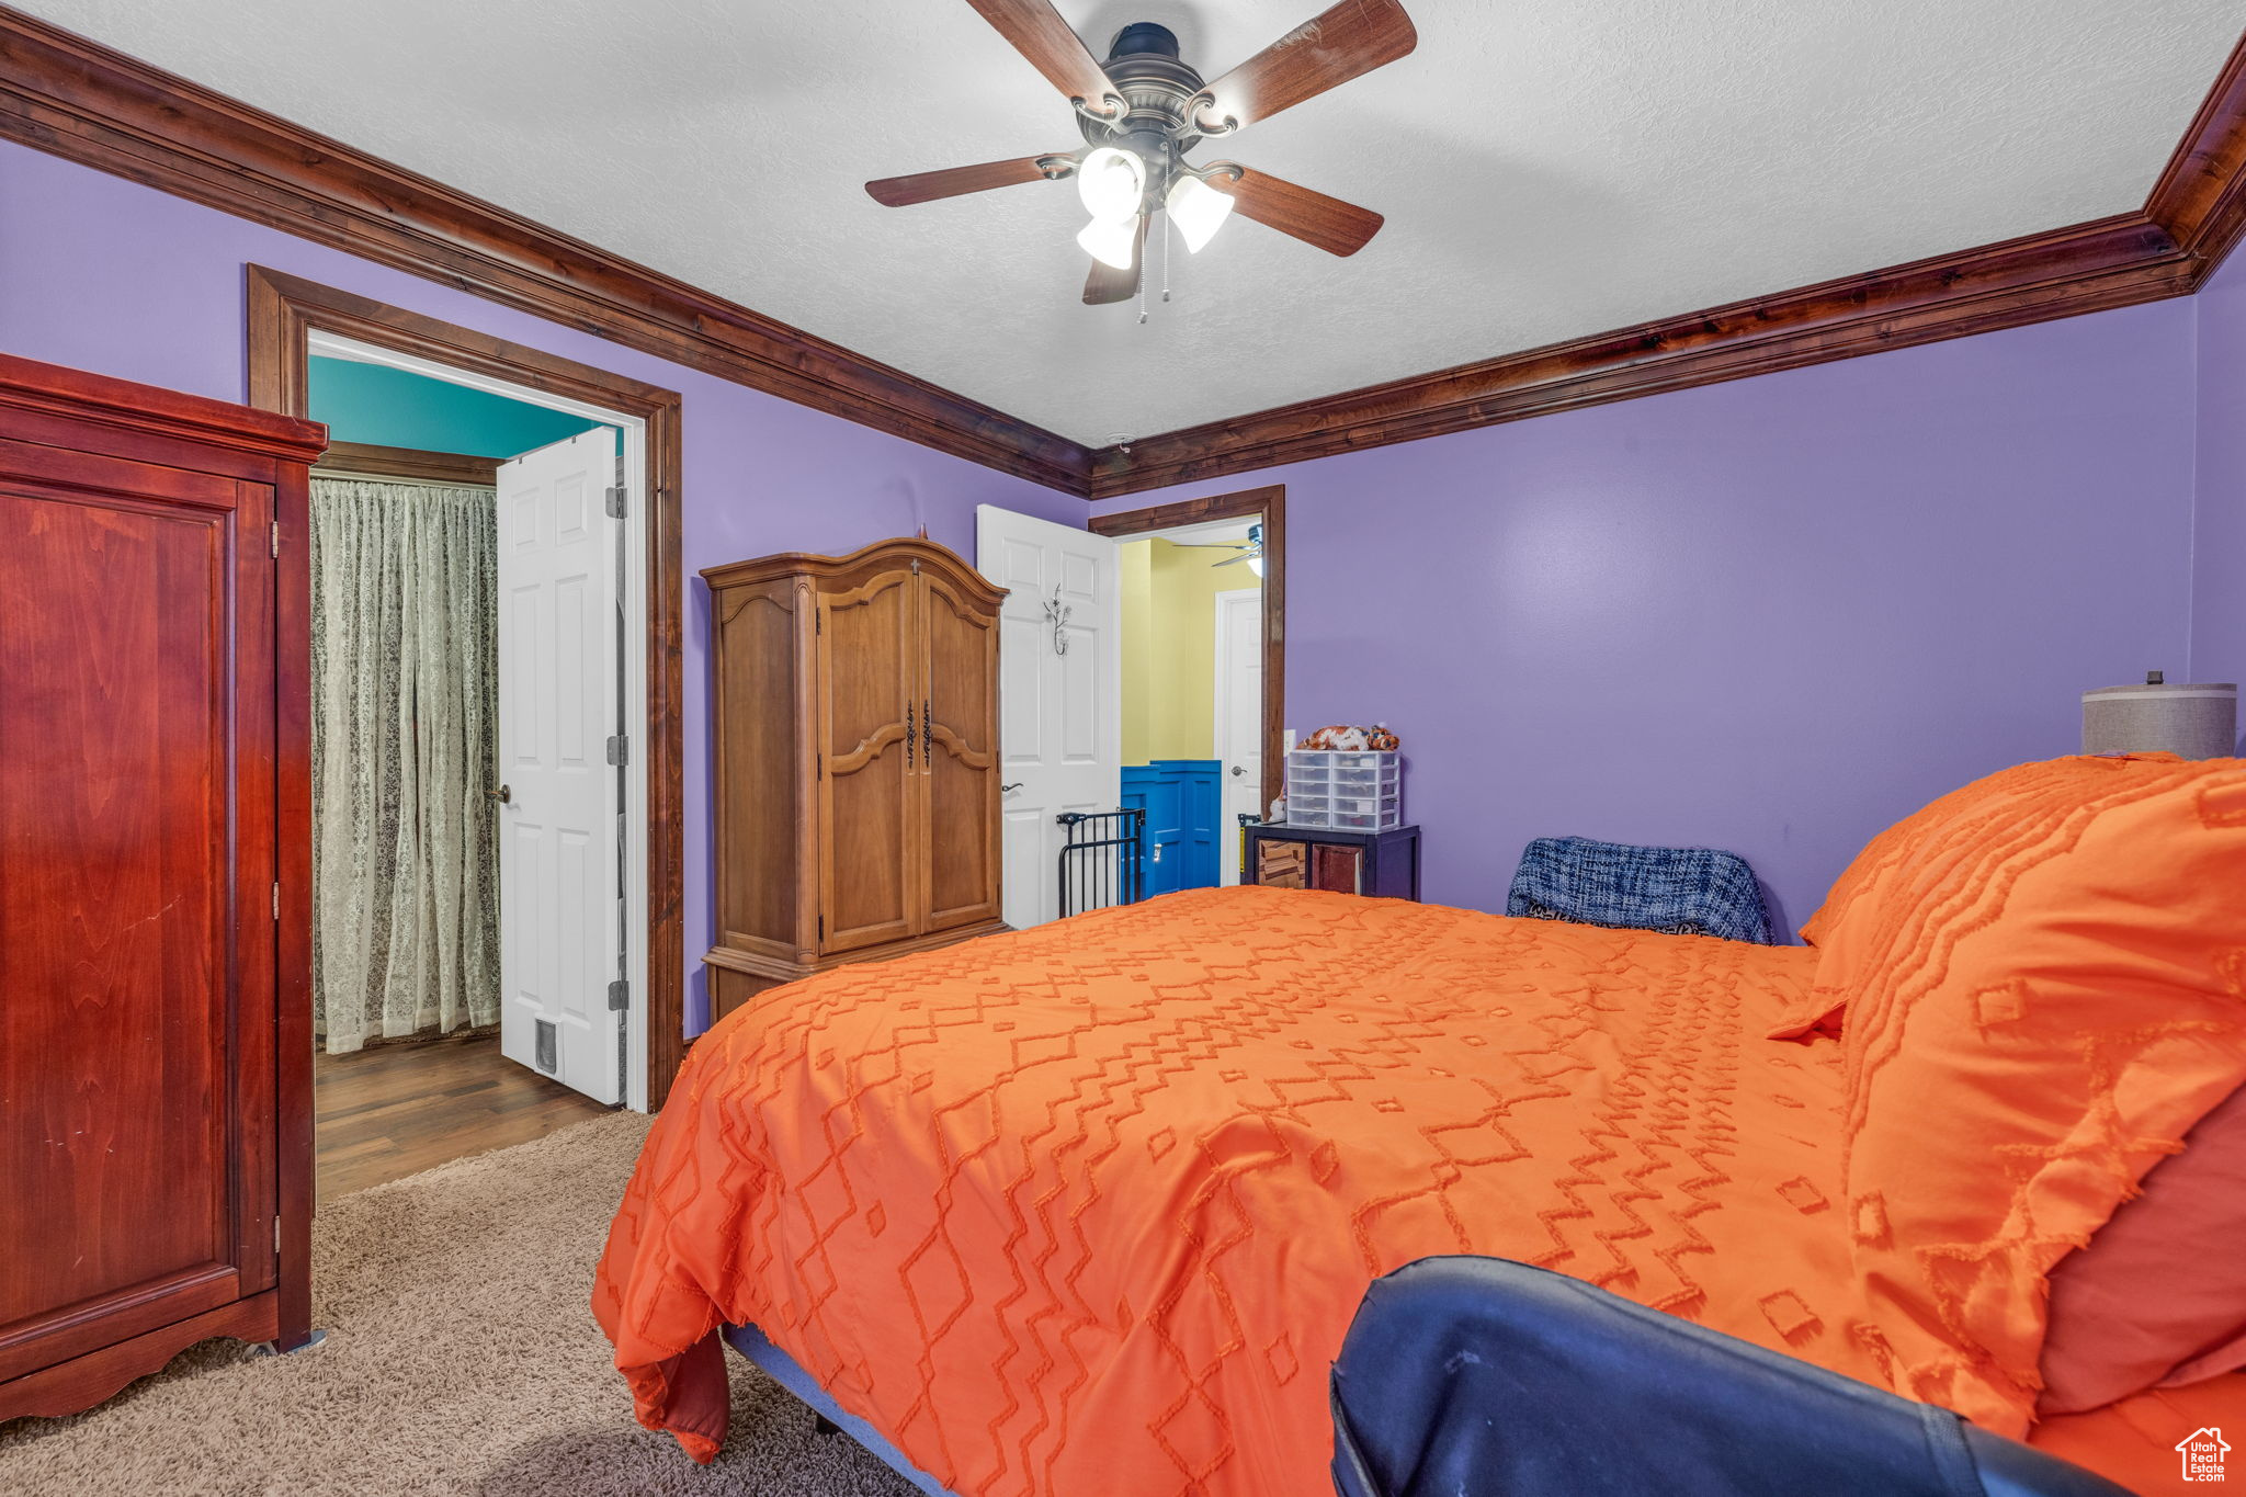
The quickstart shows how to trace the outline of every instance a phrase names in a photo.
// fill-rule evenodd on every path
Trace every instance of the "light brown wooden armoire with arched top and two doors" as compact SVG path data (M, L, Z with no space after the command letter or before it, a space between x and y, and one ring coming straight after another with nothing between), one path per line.
M712 1017L999 922L997 606L932 541L707 568Z

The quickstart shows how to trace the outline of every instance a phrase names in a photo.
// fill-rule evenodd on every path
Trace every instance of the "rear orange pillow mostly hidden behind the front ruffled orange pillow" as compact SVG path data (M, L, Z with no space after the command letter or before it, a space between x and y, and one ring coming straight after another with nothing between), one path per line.
M1842 1032L1848 992L1864 974L1864 952L1878 949L1884 922L1896 913L1887 898L1893 887L1891 873L1929 837L1941 837L1947 826L1970 819L1988 801L2010 803L2010 797L2024 788L2062 797L2073 795L2073 788L2080 788L2082 797L2100 795L2100 788L2111 779L2113 763L2181 763L2181 759L2174 754L2078 754L1997 770L1927 801L1866 842L1855 862L1833 880L1826 902L1801 925L1801 940L1819 952L1817 974L1810 979L1808 992L1770 1028L1770 1037L1810 1039Z

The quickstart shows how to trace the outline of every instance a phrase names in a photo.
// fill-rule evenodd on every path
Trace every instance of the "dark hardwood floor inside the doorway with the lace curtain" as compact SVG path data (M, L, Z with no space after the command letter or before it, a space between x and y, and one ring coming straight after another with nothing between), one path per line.
M321 1055L314 1080L321 1201L611 1111L505 1059L496 1035Z

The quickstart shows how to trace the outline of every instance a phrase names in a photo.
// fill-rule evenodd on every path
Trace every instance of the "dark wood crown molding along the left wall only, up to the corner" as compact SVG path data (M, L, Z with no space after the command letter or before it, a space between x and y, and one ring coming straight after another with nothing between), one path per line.
M0 137L955 458L1085 492L1078 442L7 7Z

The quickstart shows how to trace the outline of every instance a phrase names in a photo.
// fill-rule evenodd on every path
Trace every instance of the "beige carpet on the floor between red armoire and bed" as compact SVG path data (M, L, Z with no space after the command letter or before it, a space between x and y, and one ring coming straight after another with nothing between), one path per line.
M586 1299L645 1133L597 1118L321 1207L323 1347L207 1342L90 1414L0 1425L0 1493L919 1497L732 1353L714 1466L631 1418Z

